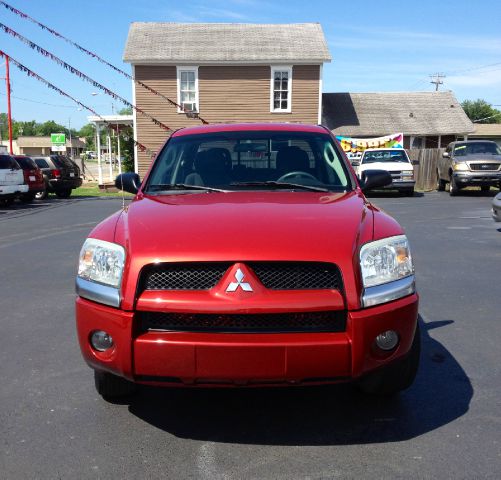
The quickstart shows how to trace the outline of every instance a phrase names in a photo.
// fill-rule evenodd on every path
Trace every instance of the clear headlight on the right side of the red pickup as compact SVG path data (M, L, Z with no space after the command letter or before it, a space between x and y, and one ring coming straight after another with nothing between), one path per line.
M360 249L364 287L373 287L414 273L409 242L405 235L366 243Z

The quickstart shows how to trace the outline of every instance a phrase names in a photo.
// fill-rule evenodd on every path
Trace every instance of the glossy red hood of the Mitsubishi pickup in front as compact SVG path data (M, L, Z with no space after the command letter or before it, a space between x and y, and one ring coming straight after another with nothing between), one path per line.
M228 192L145 196L122 216L116 241L153 261L333 261L373 234L359 192Z

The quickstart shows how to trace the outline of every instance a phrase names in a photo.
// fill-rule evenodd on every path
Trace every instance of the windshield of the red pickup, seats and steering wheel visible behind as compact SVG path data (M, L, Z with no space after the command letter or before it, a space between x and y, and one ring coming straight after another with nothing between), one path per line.
M172 189L348 190L332 138L308 132L221 132L172 138L159 153L146 193Z

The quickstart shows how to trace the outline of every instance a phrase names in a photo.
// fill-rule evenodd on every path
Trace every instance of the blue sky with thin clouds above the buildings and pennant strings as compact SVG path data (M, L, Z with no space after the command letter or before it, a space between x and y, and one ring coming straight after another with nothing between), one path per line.
M441 90L459 101L481 98L501 108L499 0L6 0L39 22L130 73L122 61L132 22L319 22L332 56L324 65L324 92ZM0 4L0 22L131 101L130 80L41 30ZM100 114L124 107L0 30L0 49ZM71 128L89 112L29 78L11 64L12 116ZM0 77L5 61L0 59ZM98 93L98 95L93 95ZM0 112L7 111L5 82Z

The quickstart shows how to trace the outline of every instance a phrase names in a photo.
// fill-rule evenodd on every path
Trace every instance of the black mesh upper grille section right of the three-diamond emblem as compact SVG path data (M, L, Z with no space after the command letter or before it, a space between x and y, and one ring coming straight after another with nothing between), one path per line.
M321 262L250 262L261 283L271 290L342 290L339 268Z

